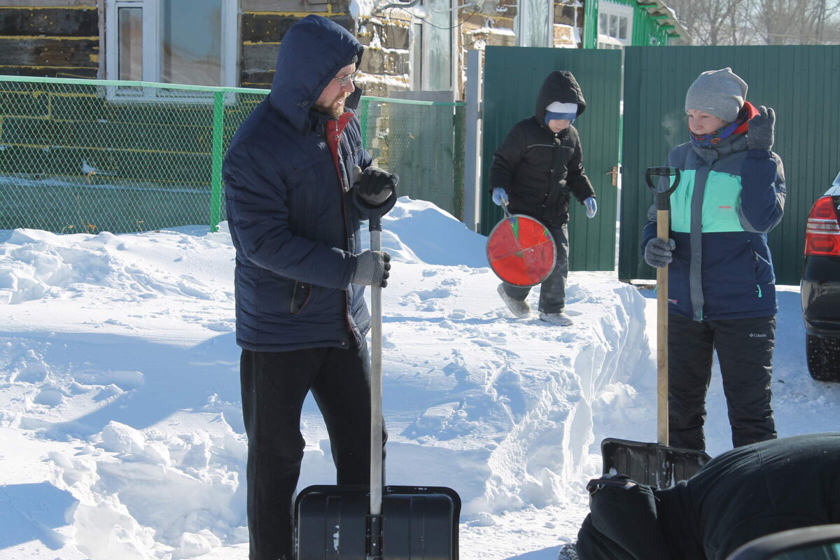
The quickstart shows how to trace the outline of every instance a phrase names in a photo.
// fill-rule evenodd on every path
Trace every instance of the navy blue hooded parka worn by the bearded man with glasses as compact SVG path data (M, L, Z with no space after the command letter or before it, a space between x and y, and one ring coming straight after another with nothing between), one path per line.
M354 113L336 120L311 110L363 50L338 24L303 18L283 38L270 95L231 140L223 179L242 348L348 348L350 337L360 343L370 326L364 288L350 284L360 215L349 181L354 165L370 166L370 154ZM337 160L328 129L339 136Z

